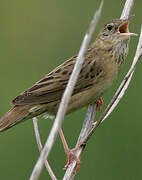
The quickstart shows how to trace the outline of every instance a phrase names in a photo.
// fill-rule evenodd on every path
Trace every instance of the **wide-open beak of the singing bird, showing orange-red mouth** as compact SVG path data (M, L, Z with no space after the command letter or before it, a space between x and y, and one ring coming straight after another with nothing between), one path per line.
M130 16L128 19L124 20L123 23L120 24L118 28L118 32L122 37L130 37L130 36L137 36L136 33L129 32L129 22L133 16Z

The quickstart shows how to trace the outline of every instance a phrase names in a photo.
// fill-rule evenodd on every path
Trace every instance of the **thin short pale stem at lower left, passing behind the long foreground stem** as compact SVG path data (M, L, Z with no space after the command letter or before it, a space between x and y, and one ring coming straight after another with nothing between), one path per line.
M36 142L37 142L37 145L38 145L38 149L39 149L39 152L41 152L42 150L42 144L41 144L41 138L40 138L40 134L39 134L39 128L38 128L38 119L37 117L34 117L33 118L33 125L34 125L34 131L35 131L35 136L36 136ZM55 174L53 173L48 161L46 160L45 161L45 167L51 177L52 180L57 180Z

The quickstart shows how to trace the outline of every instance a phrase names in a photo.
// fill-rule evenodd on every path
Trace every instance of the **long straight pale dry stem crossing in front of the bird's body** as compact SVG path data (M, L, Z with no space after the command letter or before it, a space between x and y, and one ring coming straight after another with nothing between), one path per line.
M86 49L88 48L92 34L95 30L96 24L97 24L98 19L100 17L102 6L103 6L103 1L100 5L99 9L95 13L94 18L91 21L90 27L89 27L89 29L88 29L85 37L84 37L84 40L82 42L82 45L81 45L81 48L80 48L80 51L78 54L77 61L75 63L74 69L73 69L73 72L71 74L71 77L69 79L69 82L67 84L65 92L63 94L63 97L62 97L62 100L61 100L61 103L60 103L60 106L59 106L59 109L57 112L57 116L56 116L55 121L53 123L52 129L51 129L50 134L48 136L48 139L45 143L45 146L44 146L43 150L41 151L40 157L39 157L39 159L38 159L38 161L37 161L37 163L33 169L30 180L38 179L40 172L42 170L43 164L44 164L46 158L48 157L48 155L52 149L52 146L55 142L58 130L61 127L63 118L65 116L71 94L73 92L73 89L74 89L74 86L76 84L78 75L80 73L82 64L84 62L84 55L85 55Z

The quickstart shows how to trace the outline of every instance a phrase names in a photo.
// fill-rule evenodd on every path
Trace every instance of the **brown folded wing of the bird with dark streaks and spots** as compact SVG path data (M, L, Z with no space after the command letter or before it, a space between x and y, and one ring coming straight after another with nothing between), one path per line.
M76 57L77 56L74 56L55 68L51 73L47 74L43 79L38 81L34 86L16 97L12 101L12 104L36 105L60 100L72 73ZM73 95L92 87L94 79L96 79L96 77L102 71L100 68L96 67L96 60L93 56L90 56L87 53L86 58L87 59L83 64ZM92 81L90 81L91 78Z

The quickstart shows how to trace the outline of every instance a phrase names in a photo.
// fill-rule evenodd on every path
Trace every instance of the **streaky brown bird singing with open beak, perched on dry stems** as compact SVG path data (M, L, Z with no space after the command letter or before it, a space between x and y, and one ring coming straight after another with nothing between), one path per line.
M94 102L101 102L100 98L112 86L128 54L130 37L136 36L129 32L130 20L131 17L108 21L86 50L85 61L66 114ZM12 108L0 119L0 132L44 113L56 116L77 56L56 67L12 100ZM63 138L62 129L60 135ZM66 149L66 153L68 152L70 151ZM79 166L79 160L76 161Z

